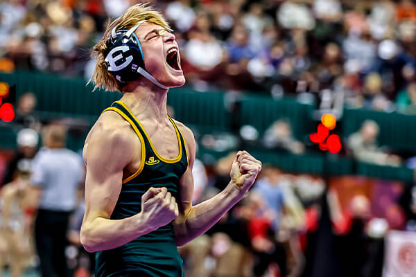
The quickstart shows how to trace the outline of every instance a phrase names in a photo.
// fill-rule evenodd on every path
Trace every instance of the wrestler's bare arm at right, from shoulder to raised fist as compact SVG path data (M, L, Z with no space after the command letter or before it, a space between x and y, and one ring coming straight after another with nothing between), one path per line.
M187 244L216 224L232 206L243 198L261 169L261 163L250 154L239 152L233 162L232 180L228 186L211 199L192 206L192 166L195 161L195 141L189 129L184 129L182 134L187 140L189 149L189 167L180 179L179 216L173 224L177 246Z

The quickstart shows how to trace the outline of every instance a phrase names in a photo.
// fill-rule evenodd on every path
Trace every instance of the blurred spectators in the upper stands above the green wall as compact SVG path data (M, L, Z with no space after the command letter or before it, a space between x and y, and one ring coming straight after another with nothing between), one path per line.
M0 1L0 70L90 78L109 17L135 0ZM349 107L415 114L411 0L150 1L198 90L312 93ZM202 54L203 53L203 54Z

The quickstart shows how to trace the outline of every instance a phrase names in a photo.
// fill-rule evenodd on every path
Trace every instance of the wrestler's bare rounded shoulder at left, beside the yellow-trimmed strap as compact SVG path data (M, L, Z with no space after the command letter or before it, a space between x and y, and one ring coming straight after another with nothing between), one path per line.
M83 150L84 161L87 162L87 158L95 154L111 156L123 153L127 157L134 152L135 144L135 134L130 123L119 114L106 111L87 135Z

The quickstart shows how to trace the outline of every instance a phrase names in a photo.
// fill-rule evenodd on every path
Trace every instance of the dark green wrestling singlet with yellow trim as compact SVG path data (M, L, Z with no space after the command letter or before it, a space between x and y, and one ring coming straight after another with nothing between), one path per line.
M123 102L114 102L104 111L108 110L116 111L127 120L141 142L140 168L123 180L119 199L110 218L120 220L139 213L141 196L150 187L166 187L178 199L179 179L187 170L188 159L184 138L173 120L169 117L176 131L179 155L175 159L164 159L156 152L139 120ZM121 247L97 252L95 274L97 277L181 277L184 276L182 263L175 244L173 224L169 223Z

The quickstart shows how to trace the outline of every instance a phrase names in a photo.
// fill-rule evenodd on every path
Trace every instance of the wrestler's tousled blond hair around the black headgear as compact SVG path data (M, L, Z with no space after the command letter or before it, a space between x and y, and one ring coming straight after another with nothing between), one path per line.
M94 80L94 90L103 88L107 91L122 92L123 84L116 80L116 78L114 78L114 76L107 71L107 67L105 66L104 52L107 49L107 39L110 38L111 31L114 27L116 27L116 30L128 30L142 20L162 26L163 28L171 31L168 22L164 19L162 14L157 10L154 10L152 6L148 6L146 3L139 3L128 8L128 10L126 10L121 17L115 19L107 25L103 38L93 48L92 57L96 58L96 66L94 69L94 75L89 82Z

